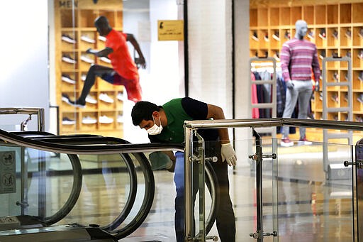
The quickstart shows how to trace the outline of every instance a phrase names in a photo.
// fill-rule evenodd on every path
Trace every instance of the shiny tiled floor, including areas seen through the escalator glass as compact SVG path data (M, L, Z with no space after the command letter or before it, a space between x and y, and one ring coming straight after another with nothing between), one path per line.
M277 146L277 163L272 165L271 160L264 159L263 231L278 233L277 237L264 236L264 241L353 241L352 177L349 176L349 170L341 169L338 172L340 175L348 174L347 177L343 176L344 179L325 179L322 150L320 144L293 148ZM333 145L328 150L332 163L342 163L352 156L348 145ZM267 145L264 153L271 152L271 147ZM250 163L250 160L240 159L235 170L229 170L230 195L237 227L236 241L240 242L256 241L250 237L257 226L256 173ZM84 169L99 168L102 171L107 171L107 166L112 167L114 164L107 161L82 161ZM71 167L65 167L57 160L52 169L69 170ZM121 241L175 241L173 173L161 170L155 171L154 176L155 198L150 214L134 233ZM38 202L38 194L32 193L37 190L38 182L36 177L31 179L28 187L30 208ZM47 204L52 206L48 207L47 212L52 214L69 196L72 176L49 179L47 185L51 193L47 194ZM138 171L138 195L130 217L135 216L140 209L144 182ZM125 205L129 184L128 176L122 172L84 175L82 193L76 206L59 224L102 226L110 223ZM207 196L206 204L209 202ZM36 213L37 210L30 212ZM130 219L125 220L125 224L128 222ZM208 235L218 236L216 226Z

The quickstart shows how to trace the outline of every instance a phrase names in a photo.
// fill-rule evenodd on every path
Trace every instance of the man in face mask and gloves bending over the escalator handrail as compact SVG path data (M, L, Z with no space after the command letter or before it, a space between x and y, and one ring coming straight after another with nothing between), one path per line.
M184 121L225 119L223 109L189 97L172 99L162 106L149 101L138 101L131 111L133 124L145 128L152 143L184 143ZM220 207L216 224L220 241L235 241L235 214L229 195L228 165L234 166L237 158L230 143L227 128L199 129L206 141L206 157L216 156L211 163L218 179ZM184 154L175 154L174 182L177 187L175 198L175 232L177 242L184 241Z

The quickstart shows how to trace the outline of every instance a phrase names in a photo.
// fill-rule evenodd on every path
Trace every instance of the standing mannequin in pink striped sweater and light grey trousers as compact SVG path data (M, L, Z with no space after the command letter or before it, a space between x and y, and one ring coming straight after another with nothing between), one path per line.
M291 115L298 101L298 119L306 119L311 93L313 92L312 72L315 77L315 90L318 91L320 77L320 66L316 45L304 37L308 31L306 21L298 20L295 23L295 38L288 40L281 49L281 70L282 77L286 83L286 103L284 118L291 118ZM300 127L299 144L310 145L306 140L306 128ZM289 126L282 128L281 146L292 146L294 142L289 139Z

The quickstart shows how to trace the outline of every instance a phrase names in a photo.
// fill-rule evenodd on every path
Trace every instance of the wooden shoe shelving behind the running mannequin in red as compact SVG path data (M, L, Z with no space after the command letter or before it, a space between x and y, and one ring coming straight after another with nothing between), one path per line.
M66 1L65 1L66 2ZM60 107L60 133L94 133L103 136L123 136L123 122L118 121L123 116L123 98L118 99L118 94L123 96L123 86L113 86L107 82L96 79L96 84L92 87L90 97L97 101L96 104L86 103L85 108L75 108L62 101L62 94L67 94L71 99L76 99L82 92L83 80L89 70L91 63L85 62L83 57L88 57L94 63L111 67L111 64L104 62L94 55L86 54L88 48L104 48L104 40L99 38L99 34L94 27L96 17L104 15L110 21L110 25L118 31L123 29L123 5L122 1L99 0L94 1L79 0L77 6L71 4L61 4L62 1L55 1L55 75L57 88L57 105ZM69 43L62 39L67 35L74 40ZM94 40L89 43L84 40L87 37ZM72 42L72 41L71 41ZM75 63L62 60L67 55ZM67 75L75 81L74 84L62 80L62 76ZM99 77L97 77L99 78ZM113 99L113 103L107 103L99 99L100 94L107 94ZM100 123L101 116L113 119L111 123ZM96 123L84 123L84 118L95 119ZM63 119L71 119L76 123L66 124Z

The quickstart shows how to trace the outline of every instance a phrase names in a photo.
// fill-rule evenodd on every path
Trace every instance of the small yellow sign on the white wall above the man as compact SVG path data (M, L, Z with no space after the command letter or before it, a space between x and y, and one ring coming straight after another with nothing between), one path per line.
M157 40L184 40L184 21L157 21Z

